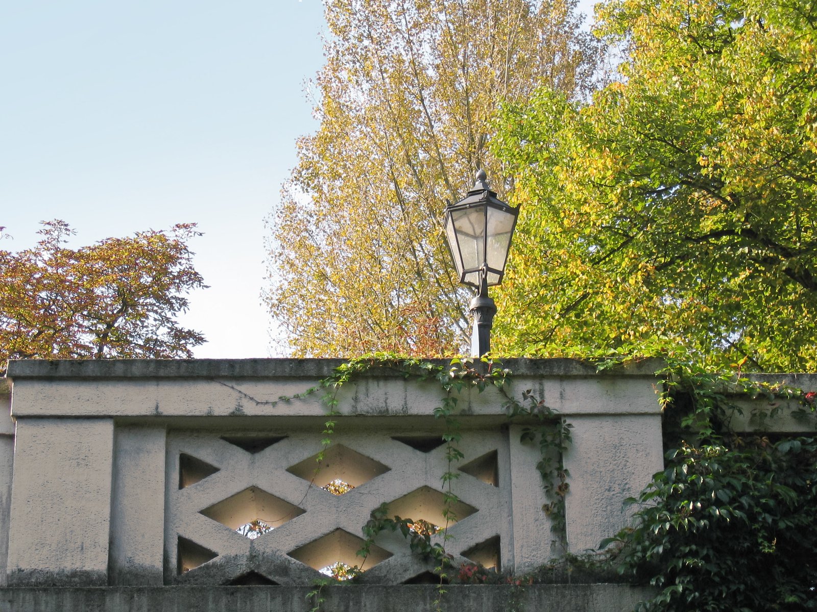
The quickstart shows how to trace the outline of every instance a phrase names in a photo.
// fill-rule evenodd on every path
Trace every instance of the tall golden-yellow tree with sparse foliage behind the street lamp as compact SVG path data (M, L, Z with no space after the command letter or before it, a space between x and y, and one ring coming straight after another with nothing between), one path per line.
M588 95L598 58L574 0L329 0L315 135L271 220L270 312L297 356L439 355L467 338L444 205L487 166L498 104Z

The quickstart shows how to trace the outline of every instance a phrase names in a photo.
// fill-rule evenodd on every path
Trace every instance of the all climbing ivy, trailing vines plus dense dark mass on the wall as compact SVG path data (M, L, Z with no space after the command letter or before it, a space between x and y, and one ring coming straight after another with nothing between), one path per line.
M597 365L605 370L622 361L614 357ZM449 509L458 501L452 487L458 477L453 464L464 458L458 446L459 393L489 387L502 392L511 422L524 419L522 441L539 446L537 468L548 499L543 510L560 536L556 543L564 543L569 473L562 456L571 443L571 426L532 392L511 394L511 372L498 364L454 360L443 366L382 354L350 361L315 388L324 389L331 417L324 447L331 444L338 388L375 367L440 383L440 406L433 414L444 419L449 465L441 480ZM712 375L672 359L659 374L663 374L659 401L665 468L638 497L626 501L635 509L634 526L602 542L604 552L587 557L565 554L525 576L500 574L476 564L462 565L452 574L452 557L445 550L447 529L435 538L420 521L388 516L382 504L363 527L365 543L359 554L365 560L382 531L400 531L414 553L437 563L435 571L441 576L437 610L444 579L510 584L515 590L508 605L517 610L528 584L569 581L572 574L583 581L606 582L611 571L618 572L619 579L656 588L654 598L639 606L642 612L817 610L817 439L739 435L730 428L731 417L740 410L734 397L765 397L768 410L752 415L762 421L775 417L784 401L799 401L796 413L813 418L817 393ZM455 519L449 514L449 522Z

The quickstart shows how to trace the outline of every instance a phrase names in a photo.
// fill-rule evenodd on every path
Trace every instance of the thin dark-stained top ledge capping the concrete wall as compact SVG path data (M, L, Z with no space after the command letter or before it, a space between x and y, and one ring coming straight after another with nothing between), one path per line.
M448 366L447 359L432 363ZM10 379L132 379L132 378L326 378L344 359L20 359L8 362ZM501 366L516 376L595 377L654 376L663 361L645 359L623 367L596 371L578 359L506 359ZM376 368L372 377L398 375L388 367Z

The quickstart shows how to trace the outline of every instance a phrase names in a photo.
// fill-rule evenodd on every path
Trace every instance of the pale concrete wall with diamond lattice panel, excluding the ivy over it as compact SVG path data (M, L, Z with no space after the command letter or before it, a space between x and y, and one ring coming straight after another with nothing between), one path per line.
M13 456L11 428L0 431L3 578L17 588L253 581L296 588L334 561L363 564L364 584L422 578L435 562L413 554L399 533L379 535L365 561L355 553L361 526L381 503L444 526L440 479L449 464L443 424L432 416L441 389L374 370L339 392L342 415L324 448L322 392L279 398L304 392L339 363L12 361ZM569 360L504 365L514 372L509 392L534 392L574 425L563 458L566 533L554 533L542 510L538 446L520 441L525 421L508 422L497 389L467 390L458 403L465 458L453 464L460 501L445 546L455 565L522 573L565 552L563 539L580 553L626 524L622 499L663 467L661 418L654 363L614 374ZM3 481L12 459L13 478ZM320 488L334 478L355 488L342 495ZM236 531L253 519L275 529L257 539Z

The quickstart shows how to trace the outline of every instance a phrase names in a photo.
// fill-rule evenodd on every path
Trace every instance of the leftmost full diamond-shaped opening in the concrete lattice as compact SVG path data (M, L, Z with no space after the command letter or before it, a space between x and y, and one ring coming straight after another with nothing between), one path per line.
M304 512L306 510L279 499L257 486L251 486L219 503L214 503L209 508L204 508L199 513L239 531L253 521L261 521L272 528L279 527L295 517L300 517ZM260 533L252 537L248 534L243 535L253 539Z

